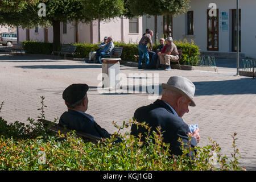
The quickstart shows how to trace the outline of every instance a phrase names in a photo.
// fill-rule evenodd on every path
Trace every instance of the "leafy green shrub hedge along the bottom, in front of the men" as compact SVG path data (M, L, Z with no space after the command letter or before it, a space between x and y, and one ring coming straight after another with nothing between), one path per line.
M41 115L40 118L43 118ZM0 119L0 123L3 119ZM0 133L0 169L1 170L240 170L238 166L239 152L236 148L236 134L233 137L234 154L229 160L221 155L221 148L216 142L204 147L196 147L195 159L191 159L192 148L182 144L183 155L170 155L170 144L162 142L162 133L153 132L141 142L141 137L135 138L129 133L120 134L123 128L136 121L123 122L115 133L122 139L115 143L115 138L105 139L99 143L85 143L77 138L75 132L67 135L51 136L45 132L39 137L30 135L38 131L32 127L28 131L30 138L10 137ZM13 125L17 126L19 122ZM39 124L38 126L40 126ZM144 123L143 125L150 130ZM6 124L10 126L10 124ZM17 129L17 127L14 127ZM19 133L19 131L17 131ZM4 135L3 135L4 134ZM215 154L215 158L214 158ZM217 165L216 165L217 164Z

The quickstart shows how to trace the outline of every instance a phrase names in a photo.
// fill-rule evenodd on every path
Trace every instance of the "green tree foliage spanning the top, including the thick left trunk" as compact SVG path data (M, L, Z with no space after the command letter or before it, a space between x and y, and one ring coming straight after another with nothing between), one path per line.
M53 26L53 49L60 44L60 22L92 22L125 15L177 15L188 10L190 0L2 0L0 24L23 28ZM39 16L38 4L46 5L46 16Z

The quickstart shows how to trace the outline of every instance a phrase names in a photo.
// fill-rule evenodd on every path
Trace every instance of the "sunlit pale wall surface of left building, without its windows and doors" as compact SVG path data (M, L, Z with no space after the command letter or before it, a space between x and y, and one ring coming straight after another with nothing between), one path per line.
M108 22L100 23L100 38L112 36L114 42L138 43L142 38L143 27L142 17L139 18L139 32L136 34L129 33L129 19L114 18ZM67 34L63 34L63 23L60 23L60 40L62 44L71 44L76 42L75 23L67 23ZM92 32L90 23L79 23L79 42L80 43L98 43L98 20L92 22ZM26 40L26 29L19 28L19 41ZM44 28L38 28L35 33L34 28L30 29L30 40L38 40L44 42ZM48 27L48 42L53 42L53 28Z

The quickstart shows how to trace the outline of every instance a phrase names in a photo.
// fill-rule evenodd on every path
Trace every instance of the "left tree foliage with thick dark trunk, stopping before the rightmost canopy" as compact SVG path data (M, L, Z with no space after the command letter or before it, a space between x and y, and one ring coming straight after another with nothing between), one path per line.
M39 16L39 0L4 0L0 9L0 24L35 27L38 24L53 26L53 49L60 44L60 22L91 22L120 16L123 0L44 0L46 16Z

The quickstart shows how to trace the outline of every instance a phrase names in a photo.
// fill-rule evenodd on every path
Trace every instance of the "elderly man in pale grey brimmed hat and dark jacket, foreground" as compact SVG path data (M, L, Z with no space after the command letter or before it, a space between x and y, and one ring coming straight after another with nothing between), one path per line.
M189 135L191 135L191 147L195 147L200 140L199 129L189 133L189 126L182 119L183 115L189 111L188 106L196 106L193 101L195 85L188 78L173 76L167 84L162 84L162 87L162 98L148 106L139 107L134 113L134 118L152 127L150 135L152 130L158 133L156 129L160 126L163 142L170 143L171 154L181 155L179 138L188 145ZM137 125L131 126L132 135L138 136L139 133L144 135L147 130L142 126L138 129Z

